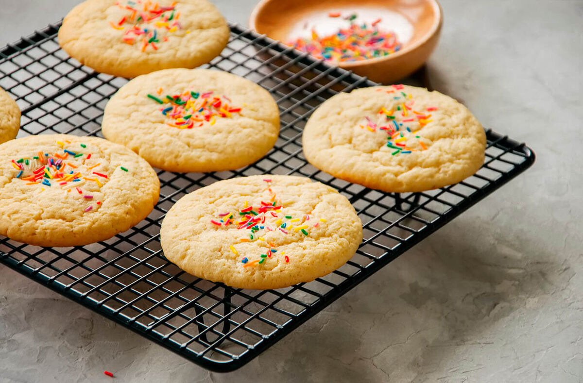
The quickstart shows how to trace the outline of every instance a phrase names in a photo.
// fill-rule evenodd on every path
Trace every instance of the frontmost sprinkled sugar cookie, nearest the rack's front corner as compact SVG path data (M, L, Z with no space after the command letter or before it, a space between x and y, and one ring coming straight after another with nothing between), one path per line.
M189 193L160 229L172 263L243 289L313 281L345 264L362 239L362 222L338 191L276 175L219 181Z

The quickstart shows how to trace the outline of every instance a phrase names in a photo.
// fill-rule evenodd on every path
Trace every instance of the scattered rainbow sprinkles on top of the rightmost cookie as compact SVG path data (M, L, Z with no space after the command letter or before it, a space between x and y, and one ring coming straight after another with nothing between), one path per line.
M406 94L402 85L393 85L392 90L382 88L377 91L384 91L393 94L393 99L398 102L395 109L387 110L381 108L377 113L376 121L366 117L366 122L360 125L361 129L367 129L370 132L384 130L388 134L387 147L395 149L392 155L410 154L414 151L423 151L431 144L431 140L417 135L419 130L423 129L431 120L431 114L428 112L436 111L437 107L427 107L425 111L417 111L413 106L412 94Z

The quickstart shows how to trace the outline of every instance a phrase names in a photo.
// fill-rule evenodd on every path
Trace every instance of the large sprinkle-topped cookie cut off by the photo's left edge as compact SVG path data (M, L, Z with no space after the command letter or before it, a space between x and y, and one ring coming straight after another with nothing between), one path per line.
M0 145L0 235L37 246L106 240L158 200L156 173L97 137L27 136Z

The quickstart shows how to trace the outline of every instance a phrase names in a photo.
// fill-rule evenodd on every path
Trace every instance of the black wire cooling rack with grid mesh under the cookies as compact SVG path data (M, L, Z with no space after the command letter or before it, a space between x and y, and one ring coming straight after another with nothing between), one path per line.
M58 27L50 25L0 51L0 86L22 109L19 136L101 136L103 108L127 80L96 73L69 58L58 47ZM243 366L535 160L524 144L489 130L482 169L456 185L414 194L353 185L308 164L301 133L321 102L374 83L237 25L231 25L227 48L208 66L255 81L278 101L281 131L265 158L235 172L159 171L159 203L135 228L71 248L35 247L0 237L0 261L209 370ZM314 282L257 291L195 278L164 258L160 224L180 197L217 180L261 173L307 176L349 198L364 228L352 260Z

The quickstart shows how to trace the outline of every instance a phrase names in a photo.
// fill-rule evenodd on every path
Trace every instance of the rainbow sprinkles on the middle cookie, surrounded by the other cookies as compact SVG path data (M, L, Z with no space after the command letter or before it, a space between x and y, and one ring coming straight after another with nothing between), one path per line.
M205 122L215 125L217 118L231 118L233 114L241 112L241 108L229 106L231 100L227 96L213 96L213 92L185 91L160 98L162 93L163 89L160 88L159 97L152 94L147 97L164 105L160 111L168 118L167 125L178 129L192 129Z

